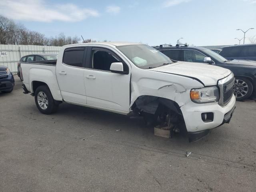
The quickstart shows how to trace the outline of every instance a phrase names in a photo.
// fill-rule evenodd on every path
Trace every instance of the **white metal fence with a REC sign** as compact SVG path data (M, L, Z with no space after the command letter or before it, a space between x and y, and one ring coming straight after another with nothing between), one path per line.
M40 53L58 54L59 51L60 47L57 46L0 44L0 65L7 66L12 73L16 73L17 63L23 56Z

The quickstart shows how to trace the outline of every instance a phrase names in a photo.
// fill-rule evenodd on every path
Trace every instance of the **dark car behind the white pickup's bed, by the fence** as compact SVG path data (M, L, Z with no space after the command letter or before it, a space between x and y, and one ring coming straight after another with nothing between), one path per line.
M20 77L20 62L34 62L34 61L45 61L45 60L56 60L58 54L31 54L23 56L17 63L17 75Z

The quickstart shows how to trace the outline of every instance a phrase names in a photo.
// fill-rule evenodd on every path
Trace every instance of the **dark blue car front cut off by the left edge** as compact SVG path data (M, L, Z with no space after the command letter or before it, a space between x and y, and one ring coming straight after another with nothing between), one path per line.
M6 66L0 65L0 92L10 93L14 87L14 77Z

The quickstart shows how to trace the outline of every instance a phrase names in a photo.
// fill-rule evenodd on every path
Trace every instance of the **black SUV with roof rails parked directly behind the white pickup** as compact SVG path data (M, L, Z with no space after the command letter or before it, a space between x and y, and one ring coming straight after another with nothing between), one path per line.
M172 60L198 62L227 68L236 78L234 94L236 100L244 100L256 90L256 62L245 60L227 60L219 54L203 47L156 46L154 47ZM256 91L254 91L255 95Z

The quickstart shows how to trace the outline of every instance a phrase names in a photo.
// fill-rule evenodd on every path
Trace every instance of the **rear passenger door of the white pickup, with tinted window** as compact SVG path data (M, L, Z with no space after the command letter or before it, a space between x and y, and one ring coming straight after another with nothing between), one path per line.
M66 48L56 65L60 92L65 101L86 104L84 66L86 47Z

